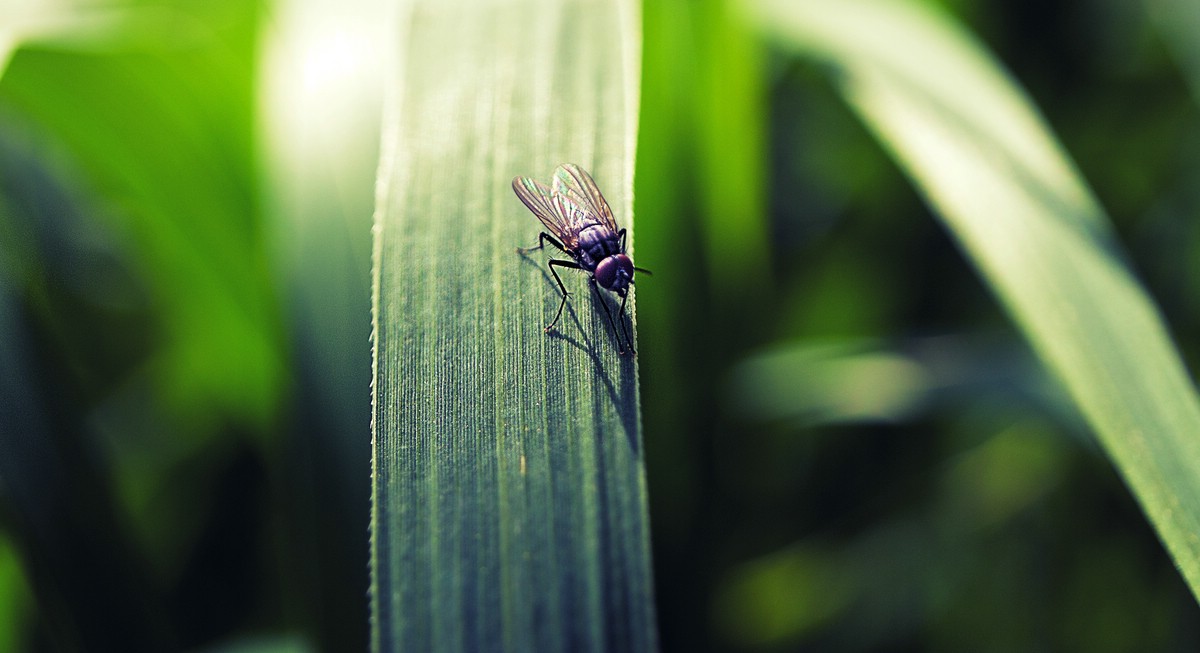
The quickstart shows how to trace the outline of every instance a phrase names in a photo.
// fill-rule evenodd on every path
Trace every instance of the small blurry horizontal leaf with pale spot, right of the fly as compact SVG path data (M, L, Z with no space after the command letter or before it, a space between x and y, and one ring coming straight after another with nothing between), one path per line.
M900 423L970 395L1002 401L1014 413L1058 413L1060 425L1085 431L1074 406L1015 337L780 343L740 361L728 393L734 409L756 421Z

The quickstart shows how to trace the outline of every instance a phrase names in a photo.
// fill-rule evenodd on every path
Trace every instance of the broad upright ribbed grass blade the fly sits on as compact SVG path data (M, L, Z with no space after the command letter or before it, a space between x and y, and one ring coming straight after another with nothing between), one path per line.
M540 226L510 188L572 161L632 228L636 16L401 11L374 245L376 651L656 646L636 360L581 275L542 333L557 288L546 256L515 252Z

